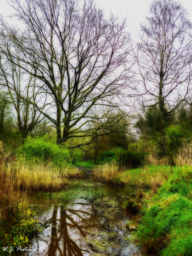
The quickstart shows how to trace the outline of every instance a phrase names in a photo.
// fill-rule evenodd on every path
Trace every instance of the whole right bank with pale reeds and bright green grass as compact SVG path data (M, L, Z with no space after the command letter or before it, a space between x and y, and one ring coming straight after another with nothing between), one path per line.
M111 163L96 167L93 178L151 188L124 202L130 212L139 212L139 221L134 219L138 243L147 255L192 255L192 167L153 165L119 171Z

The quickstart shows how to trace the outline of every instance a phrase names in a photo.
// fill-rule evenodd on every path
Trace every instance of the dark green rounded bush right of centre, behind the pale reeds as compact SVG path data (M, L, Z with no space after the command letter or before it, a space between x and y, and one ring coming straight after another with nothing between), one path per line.
M140 150L139 144L129 144L126 151L121 152L117 159L119 167L126 167L128 169L136 168L144 164L146 153Z

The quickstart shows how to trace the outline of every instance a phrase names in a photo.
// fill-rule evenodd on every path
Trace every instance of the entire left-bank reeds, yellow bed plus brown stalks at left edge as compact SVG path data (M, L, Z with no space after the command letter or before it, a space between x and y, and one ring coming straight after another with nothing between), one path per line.
M16 159L0 142L0 219L8 216L13 219L16 205L26 201L29 190L58 191L67 185L69 178L80 176L76 167Z

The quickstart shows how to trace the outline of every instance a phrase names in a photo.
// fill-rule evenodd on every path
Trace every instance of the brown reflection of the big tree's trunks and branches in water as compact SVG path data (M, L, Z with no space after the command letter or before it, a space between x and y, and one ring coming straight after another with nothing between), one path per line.
M36 241L36 250L28 255L87 256L99 253L85 238L89 234L87 230L97 233L104 228L105 224L101 225L101 222L104 222L103 216L86 200L73 203L73 207L67 209L57 205L45 223L43 237ZM34 246L35 243L33 249Z

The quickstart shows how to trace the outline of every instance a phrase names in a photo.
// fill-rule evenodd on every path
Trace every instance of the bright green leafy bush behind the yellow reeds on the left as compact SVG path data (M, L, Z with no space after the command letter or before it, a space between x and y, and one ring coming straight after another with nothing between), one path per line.
M51 142L46 136L37 139L28 138L21 149L27 159L51 160L57 164L71 161L69 150Z

